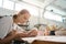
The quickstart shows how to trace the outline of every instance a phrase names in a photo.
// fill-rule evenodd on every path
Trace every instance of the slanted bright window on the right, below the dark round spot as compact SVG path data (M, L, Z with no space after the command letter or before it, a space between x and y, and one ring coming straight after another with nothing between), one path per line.
M50 19L50 20L55 20L55 21L63 22L61 15L55 14L55 13L50 12L50 11L46 11L46 12L44 13L44 18Z

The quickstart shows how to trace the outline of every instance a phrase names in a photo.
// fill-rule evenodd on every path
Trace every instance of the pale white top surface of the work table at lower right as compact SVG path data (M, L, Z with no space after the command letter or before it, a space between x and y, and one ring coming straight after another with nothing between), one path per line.
M66 43L66 36L35 36L35 37L24 37L22 40L28 41L29 43L32 43L35 40Z

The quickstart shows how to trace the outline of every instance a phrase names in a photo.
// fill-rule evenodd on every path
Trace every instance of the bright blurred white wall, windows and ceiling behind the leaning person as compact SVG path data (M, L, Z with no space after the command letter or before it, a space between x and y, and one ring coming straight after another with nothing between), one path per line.
M0 15L13 15L22 9L31 13L28 29L56 25L66 29L66 0L0 0Z

